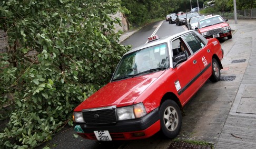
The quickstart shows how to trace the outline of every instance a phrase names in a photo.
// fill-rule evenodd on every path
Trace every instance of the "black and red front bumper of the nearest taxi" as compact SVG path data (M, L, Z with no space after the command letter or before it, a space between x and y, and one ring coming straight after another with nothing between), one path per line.
M136 140L144 139L160 131L159 109L155 109L141 119L119 121L116 124L87 125L85 123L75 123L80 125L84 133L77 132L84 139L96 140L94 131L109 131L112 140Z

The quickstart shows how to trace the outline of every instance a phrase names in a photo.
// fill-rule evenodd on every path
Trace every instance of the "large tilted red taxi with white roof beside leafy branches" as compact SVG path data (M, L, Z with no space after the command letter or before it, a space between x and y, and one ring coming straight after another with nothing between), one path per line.
M127 52L111 81L73 112L74 130L85 139L144 139L160 130L179 134L184 105L206 80L220 80L223 50L216 38L194 30Z

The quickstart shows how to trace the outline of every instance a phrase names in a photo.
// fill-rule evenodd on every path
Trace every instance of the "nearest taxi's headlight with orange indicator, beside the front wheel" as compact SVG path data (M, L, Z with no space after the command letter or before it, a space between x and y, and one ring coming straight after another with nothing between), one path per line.
M144 115L146 115L146 110L143 103L117 108L118 120L136 119L141 118Z

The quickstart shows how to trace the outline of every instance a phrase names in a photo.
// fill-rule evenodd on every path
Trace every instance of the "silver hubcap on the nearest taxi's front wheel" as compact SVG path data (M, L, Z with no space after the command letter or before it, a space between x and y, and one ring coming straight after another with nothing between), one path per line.
M164 124L169 131L175 131L178 123L178 113L174 107L167 107L164 111Z

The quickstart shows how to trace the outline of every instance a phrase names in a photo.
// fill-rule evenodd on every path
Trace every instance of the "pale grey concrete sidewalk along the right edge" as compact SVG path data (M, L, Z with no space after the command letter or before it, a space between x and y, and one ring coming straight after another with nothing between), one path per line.
M235 33L222 44L231 47L222 60L222 76L237 76L239 88L215 148L256 148L256 20L228 23Z

